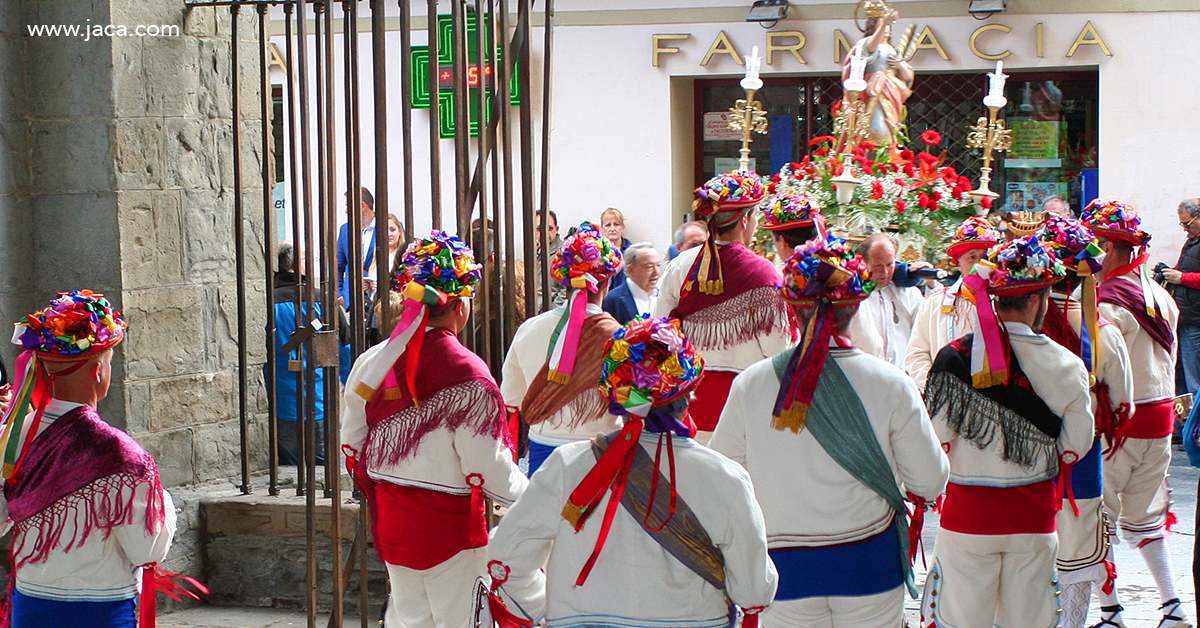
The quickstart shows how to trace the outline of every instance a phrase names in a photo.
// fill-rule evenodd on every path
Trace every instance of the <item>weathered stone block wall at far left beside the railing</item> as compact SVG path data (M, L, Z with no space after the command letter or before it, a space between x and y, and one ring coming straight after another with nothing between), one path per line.
M258 16L240 11L251 463L266 466ZM178 26L160 37L29 25ZM0 355L59 291L107 294L130 324L101 405L168 488L236 478L232 16L181 0L0 1ZM167 568L204 574L199 504L176 490Z

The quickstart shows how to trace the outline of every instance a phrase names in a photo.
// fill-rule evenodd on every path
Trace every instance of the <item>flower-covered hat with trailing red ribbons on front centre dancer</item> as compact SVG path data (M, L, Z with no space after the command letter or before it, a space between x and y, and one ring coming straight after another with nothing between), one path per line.
M629 469L634 456L641 451L638 437L643 429L659 433L659 447L667 448L670 463L670 507L666 518L652 512L655 503L654 489L650 491L649 507L643 522L652 530L662 530L674 516L676 478L672 433L676 436L694 436L696 426L686 414L677 417L656 412L672 402L680 400L700 381L704 371L704 360L692 347L679 328L678 318L642 318L630 321L618 329L612 340L605 343L604 366L600 375L600 390L608 399L610 412L628 417L625 426L612 438L602 438L600 444L607 447L592 471L571 491L563 507L565 519L576 532L583 530L588 519L600 508L608 490L608 504L605 509L599 539L592 556L583 564L575 581L583 586L592 573L604 548L613 516L620 508L620 498L625 491ZM659 476L659 461L655 456L654 474ZM658 483L655 483L656 485Z

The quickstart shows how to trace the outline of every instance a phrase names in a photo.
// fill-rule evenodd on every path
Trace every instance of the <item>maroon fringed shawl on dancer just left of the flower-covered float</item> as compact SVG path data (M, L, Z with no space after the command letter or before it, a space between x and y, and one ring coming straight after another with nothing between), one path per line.
M787 304L779 297L782 280L766 258L740 243L718 249L725 276L722 294L684 291L671 313L701 351L726 349L773 331L793 329Z

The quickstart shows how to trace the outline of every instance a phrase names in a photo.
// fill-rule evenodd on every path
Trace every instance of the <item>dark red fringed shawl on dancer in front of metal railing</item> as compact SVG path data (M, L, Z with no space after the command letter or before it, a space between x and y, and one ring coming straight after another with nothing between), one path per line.
M487 364L467 351L454 331L428 330L418 361L416 397L408 390L407 359L401 355L366 405L366 468L391 466L412 456L430 432L469 429L490 435L510 449L500 389Z

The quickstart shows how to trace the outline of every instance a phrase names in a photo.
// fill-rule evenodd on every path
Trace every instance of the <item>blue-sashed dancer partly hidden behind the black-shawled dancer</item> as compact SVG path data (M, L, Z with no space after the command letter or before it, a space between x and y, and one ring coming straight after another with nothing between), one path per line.
M1112 435L1129 419L1133 371L1121 331L1102 318L1096 304L1093 273L1103 252L1096 235L1075 219L1048 215L1038 232L1042 247L1067 269L1050 289L1042 331L1079 355L1092 373L1092 413L1096 439L1070 471L1070 491L1063 491L1058 512L1058 586L1062 588L1062 628L1082 628L1092 586L1111 590L1108 531L1104 521L1104 479L1100 435ZM1070 298L1080 289L1080 300ZM1063 488L1066 485L1063 484Z

